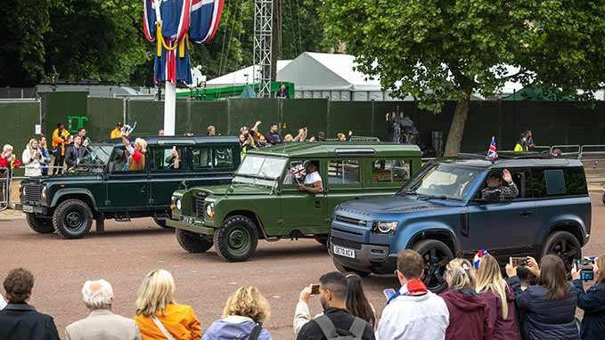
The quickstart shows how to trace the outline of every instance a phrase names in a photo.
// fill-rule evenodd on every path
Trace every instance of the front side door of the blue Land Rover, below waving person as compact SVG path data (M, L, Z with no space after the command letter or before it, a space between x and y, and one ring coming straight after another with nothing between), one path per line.
M531 172L520 168L509 170L519 197L500 202L471 201L468 226L462 226L459 236L464 250L486 249L503 261L511 255L527 255L533 247L541 222L536 202L529 195Z

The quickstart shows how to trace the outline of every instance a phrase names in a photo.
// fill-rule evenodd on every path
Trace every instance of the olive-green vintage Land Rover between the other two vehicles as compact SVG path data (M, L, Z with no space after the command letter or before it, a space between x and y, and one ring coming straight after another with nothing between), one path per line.
M321 193L298 188L304 177L296 177L309 163L319 165ZM167 224L184 250L203 253L214 245L229 262L246 261L258 239L325 244L335 206L392 194L420 167L421 150L397 143L297 142L250 150L231 184L176 190Z

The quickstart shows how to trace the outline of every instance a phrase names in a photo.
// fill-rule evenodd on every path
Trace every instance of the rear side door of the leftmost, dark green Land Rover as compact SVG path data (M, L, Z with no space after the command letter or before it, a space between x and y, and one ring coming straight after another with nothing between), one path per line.
M184 146L163 144L148 150L150 157L150 205L168 209L172 193L183 185Z

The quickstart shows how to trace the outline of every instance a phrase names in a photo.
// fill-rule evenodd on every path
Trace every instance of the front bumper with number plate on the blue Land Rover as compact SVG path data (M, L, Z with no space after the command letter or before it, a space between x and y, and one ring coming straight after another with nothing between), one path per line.
M334 254L335 246L355 250L355 258ZM388 246L362 244L331 237L328 252L336 263L356 271L392 274L397 269L397 254L389 254Z

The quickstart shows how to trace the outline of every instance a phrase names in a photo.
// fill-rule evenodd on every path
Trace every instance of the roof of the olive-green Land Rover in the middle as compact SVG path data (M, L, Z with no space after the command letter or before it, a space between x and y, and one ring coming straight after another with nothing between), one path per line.
M416 145L396 142L285 142L272 147L249 150L248 154L290 158L349 156L421 157Z

